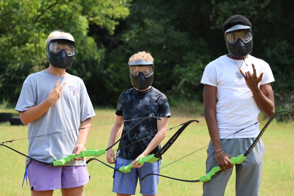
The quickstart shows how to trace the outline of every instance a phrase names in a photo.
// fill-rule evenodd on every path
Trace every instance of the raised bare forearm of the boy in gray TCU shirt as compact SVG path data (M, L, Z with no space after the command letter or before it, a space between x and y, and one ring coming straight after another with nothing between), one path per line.
M20 112L20 119L21 122L24 123L25 125L33 122L34 120L37 120L40 118L44 113L49 110L49 108L52 106L52 102L49 100L45 99L42 103L32 106L28 108L25 111Z

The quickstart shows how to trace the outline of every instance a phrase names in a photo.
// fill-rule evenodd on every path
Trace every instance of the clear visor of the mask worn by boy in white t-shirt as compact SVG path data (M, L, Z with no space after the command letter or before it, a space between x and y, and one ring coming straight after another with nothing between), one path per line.
M247 43L252 39L252 31L250 29L240 29L239 31L228 32L225 35L226 41L231 44L235 44L238 38L242 39L244 43Z

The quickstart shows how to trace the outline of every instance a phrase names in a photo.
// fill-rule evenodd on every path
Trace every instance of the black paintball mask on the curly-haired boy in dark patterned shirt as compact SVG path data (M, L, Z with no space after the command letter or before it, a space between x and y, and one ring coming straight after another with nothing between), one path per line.
M139 91L151 86L154 76L153 61L138 59L129 62L129 74L132 85Z

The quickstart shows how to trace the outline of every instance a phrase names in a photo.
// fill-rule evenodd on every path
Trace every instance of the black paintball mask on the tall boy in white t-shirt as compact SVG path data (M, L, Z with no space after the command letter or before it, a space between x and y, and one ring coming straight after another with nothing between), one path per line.
M235 57L247 56L253 48L252 31L249 26L237 24L225 31L229 53Z

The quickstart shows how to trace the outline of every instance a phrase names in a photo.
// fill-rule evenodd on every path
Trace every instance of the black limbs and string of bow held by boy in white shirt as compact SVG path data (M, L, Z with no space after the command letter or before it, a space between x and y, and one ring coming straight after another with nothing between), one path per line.
M260 131L260 133L258 134L258 136L255 138L253 144L249 147L249 149L248 149L248 150L245 152L245 154L243 155L245 158L246 158L246 156L251 152L251 150L254 148L254 146L256 145L256 143L257 143L258 140L260 139L261 135L263 134L263 132L265 131L265 129L266 129L266 128L268 127L268 125L270 124L270 122L271 122L271 121L272 121L272 120L273 120L278 114L280 114L280 113L284 113L284 112L292 113L291 111L288 111L288 110L286 110L286 111L280 111L280 112L278 112L278 113L275 113L275 114L273 114L273 115L271 115L271 116L265 118L265 119L270 118L270 120L268 120L268 122L265 124L265 126L263 127L263 129ZM263 119L263 120L265 120L265 119ZM259 123L259 122L261 122L261 121L263 121L263 120L260 120L260 121L258 121L258 122L256 122L256 123L252 124L252 125L255 125L255 124L257 124L257 123ZM252 126L252 125L249 125L248 127L250 127L250 126ZM246 127L246 128L248 128L248 127ZM230 135L236 134L236 133L238 133L238 132L240 132L241 130L244 130L244 129L246 129L246 128L240 129L240 130L238 130L238 131L236 131L235 133L232 133L232 134L230 134ZM226 136L225 138L229 137L230 135ZM223 139L225 139L225 138L222 138L221 140L223 140ZM208 147L208 146L209 146L209 145L207 145L207 146L205 146L205 147L203 147L203 148L206 148L206 147ZM201 149L203 149L203 148L201 148ZM199 149L199 150L201 150L201 149ZM196 150L195 152L197 152L197 151L199 151L199 150ZM193 152L193 153L195 153L195 152ZM189 155L191 155L191 154L193 154L193 153L190 153ZM186 156L184 156L184 157L187 157L187 156L188 156L188 155L186 155ZM240 156L240 155L239 155L239 156ZM184 158L184 157L182 157L182 158ZM180 159L178 159L178 160L181 160L182 158L180 158ZM176 161L178 161L178 160L176 160ZM174 163L174 162L176 162L176 161L173 161L172 163ZM168 165L170 165L170 164L172 164L172 163L169 163ZM166 166L168 166L168 165L165 165L165 166L163 166L163 167L166 167ZM163 167L161 167L161 168L163 168ZM159 168L159 169L161 169L161 168ZM157 170L155 170L155 171L157 171ZM153 172L155 172L155 171L153 171ZM141 180L144 180L147 176L150 176L150 175L159 175L159 174L154 174L153 172L151 172L151 173L149 173L148 175L144 176ZM199 180L182 180L182 179L172 178L172 177L168 177L168 176L164 176L164 175L159 175L159 176L167 177L167 178L170 178L170 179L173 179L173 180L179 180L179 181L183 181L183 182L200 182Z

